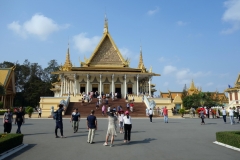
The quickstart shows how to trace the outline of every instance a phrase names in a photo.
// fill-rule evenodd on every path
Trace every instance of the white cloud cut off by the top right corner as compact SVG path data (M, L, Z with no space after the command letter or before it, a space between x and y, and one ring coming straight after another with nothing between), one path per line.
M231 34L240 29L240 0L227 0L224 2L227 8L222 20L232 25L231 28L222 31L223 34Z

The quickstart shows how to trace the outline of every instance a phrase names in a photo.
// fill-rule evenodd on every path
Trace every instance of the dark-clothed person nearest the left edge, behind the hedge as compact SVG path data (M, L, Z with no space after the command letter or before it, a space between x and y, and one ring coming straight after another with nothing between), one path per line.
M12 130L12 122L13 122L13 114L9 108L3 115L3 126L4 126L4 133L11 133Z

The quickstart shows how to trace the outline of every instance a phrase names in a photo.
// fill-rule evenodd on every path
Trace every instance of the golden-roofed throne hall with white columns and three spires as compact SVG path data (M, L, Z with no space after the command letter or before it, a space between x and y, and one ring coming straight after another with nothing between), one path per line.
M153 73L151 68L146 69L141 48L138 67L130 67L129 59L123 58L108 31L106 18L103 36L91 57L84 58L79 67L73 67L68 48L64 65L52 74L58 74L60 80L51 89L54 97L76 97L91 91L118 93L119 98L126 95L139 96L140 93L151 96L156 91L152 78L160 76Z

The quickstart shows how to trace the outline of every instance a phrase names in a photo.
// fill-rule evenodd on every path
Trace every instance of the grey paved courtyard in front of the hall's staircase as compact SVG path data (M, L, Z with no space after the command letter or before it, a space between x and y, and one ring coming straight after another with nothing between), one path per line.
M1 119L2 120L2 119ZM65 159L161 159L161 160L235 160L240 152L213 142L217 131L240 130L240 125L224 124L222 119L169 119L162 118L133 119L131 142L123 143L123 134L118 134L114 147L103 146L107 119L98 119L95 144L87 143L86 120L81 119L79 132L73 133L71 123L64 119L65 139L55 138L55 122L52 119L26 119L22 126L24 143L29 144L23 150L6 159L17 160L65 160ZM228 120L229 121L229 120ZM1 121L2 122L2 121ZM13 125L12 131L17 126ZM3 125L0 126L3 131Z

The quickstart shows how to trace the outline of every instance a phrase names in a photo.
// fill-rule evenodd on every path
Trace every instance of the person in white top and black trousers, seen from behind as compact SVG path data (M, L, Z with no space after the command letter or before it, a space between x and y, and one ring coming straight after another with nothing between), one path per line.
M131 129L132 129L132 122L131 116L129 115L129 111L125 112L125 116L123 117L124 123L124 143L130 142L131 140Z

